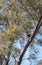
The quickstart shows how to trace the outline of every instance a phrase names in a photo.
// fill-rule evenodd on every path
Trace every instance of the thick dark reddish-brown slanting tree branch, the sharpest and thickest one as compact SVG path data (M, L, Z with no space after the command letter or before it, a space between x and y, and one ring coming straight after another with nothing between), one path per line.
M37 34L39 28L41 27L41 24L42 24L41 19L42 19L42 15L40 16L40 19L39 19L38 24L37 24L37 26L36 26L36 28L35 28L35 31L33 32L33 35L31 36L31 39L27 42L27 44L25 45L25 47L24 47L22 53L20 54L19 61L18 61L17 65L20 65L20 64L21 64L22 58L23 58L23 56L24 56L24 54L25 54L27 48L29 47L30 43L33 41L33 39L34 39L34 37L36 36L36 34Z

